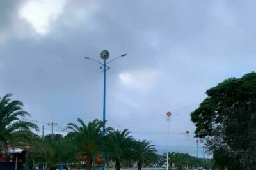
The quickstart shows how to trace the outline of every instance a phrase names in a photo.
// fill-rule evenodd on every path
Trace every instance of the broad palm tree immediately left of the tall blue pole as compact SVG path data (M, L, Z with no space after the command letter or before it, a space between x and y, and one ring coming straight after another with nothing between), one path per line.
M95 163L97 157L102 153L104 137L102 136L101 129L105 122L95 119L86 125L80 118L77 120L81 127L73 123L67 124L67 129L73 131L68 136L72 138L72 143L77 147L80 158L85 160L86 167L90 169L92 163ZM106 128L106 132L109 130L111 128Z

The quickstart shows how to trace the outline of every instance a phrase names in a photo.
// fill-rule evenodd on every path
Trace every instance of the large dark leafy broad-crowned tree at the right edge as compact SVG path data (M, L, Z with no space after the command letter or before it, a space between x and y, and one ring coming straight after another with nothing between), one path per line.
M223 169L256 169L256 73L227 79L206 94L191 113L196 136L206 139L216 164L225 157Z

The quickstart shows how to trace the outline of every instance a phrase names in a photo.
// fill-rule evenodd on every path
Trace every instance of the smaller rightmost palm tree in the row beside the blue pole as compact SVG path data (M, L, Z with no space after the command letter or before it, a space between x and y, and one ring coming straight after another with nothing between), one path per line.
M141 170L141 166L145 163L150 163L157 159L155 145L152 145L150 141L136 141L134 146L134 157L138 161L138 170Z

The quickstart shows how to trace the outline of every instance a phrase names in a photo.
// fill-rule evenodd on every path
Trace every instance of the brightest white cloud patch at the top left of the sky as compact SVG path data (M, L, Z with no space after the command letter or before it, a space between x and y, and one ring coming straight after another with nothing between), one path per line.
M63 12L65 0L31 0L19 10L19 17L26 20L35 32L45 35Z

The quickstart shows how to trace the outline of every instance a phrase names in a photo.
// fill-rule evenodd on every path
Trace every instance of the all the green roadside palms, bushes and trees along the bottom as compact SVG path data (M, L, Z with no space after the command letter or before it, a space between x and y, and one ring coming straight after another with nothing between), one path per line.
M210 169L256 169L256 73L229 78L206 91L207 98L191 113L195 137L205 140L205 148L213 159L200 159L186 153L170 152L170 169L204 167ZM106 122L88 123L80 118L67 124L68 134L35 134L38 126L25 117L22 102L12 101L12 94L0 98L0 153L8 147L26 150L26 164L56 169L63 165L92 169L107 167L166 166L166 153L157 155L150 141L137 141L128 129L102 127ZM104 155L102 154L104 153Z

